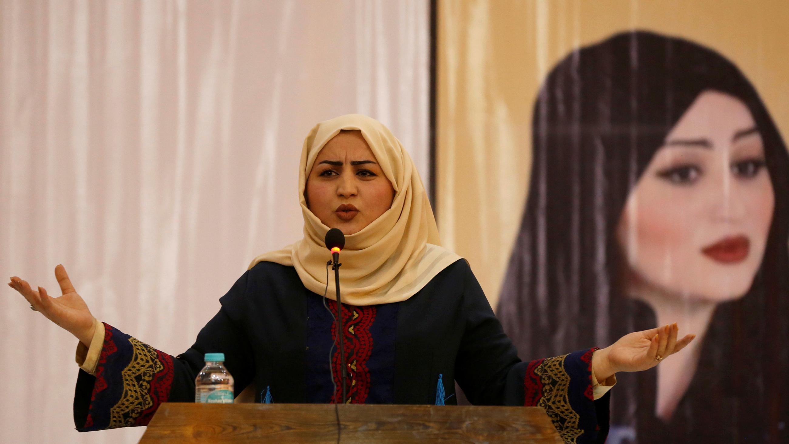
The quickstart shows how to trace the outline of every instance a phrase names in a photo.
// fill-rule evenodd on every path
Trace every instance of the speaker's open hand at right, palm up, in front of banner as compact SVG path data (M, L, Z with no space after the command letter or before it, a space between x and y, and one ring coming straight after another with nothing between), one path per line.
M592 356L592 368L598 382L617 371L641 371L653 368L668 356L679 352L696 338L688 334L677 341L679 327L676 323L651 330L626 334Z

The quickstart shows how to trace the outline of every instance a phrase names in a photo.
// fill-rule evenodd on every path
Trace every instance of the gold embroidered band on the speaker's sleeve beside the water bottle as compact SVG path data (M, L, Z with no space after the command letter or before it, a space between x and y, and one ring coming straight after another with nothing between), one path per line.
M151 400L151 379L162 371L156 350L135 338L129 338L133 355L129 365L121 371L123 394L120 401L110 409L110 427L129 427L145 409L153 405Z

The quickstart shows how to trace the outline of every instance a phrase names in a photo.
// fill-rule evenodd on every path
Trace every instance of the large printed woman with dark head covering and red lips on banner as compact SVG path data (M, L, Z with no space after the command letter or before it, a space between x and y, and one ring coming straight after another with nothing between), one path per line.
M785 434L789 155L750 81L689 40L623 32L551 70L532 133L498 309L518 349L682 319L701 341L623 384L611 439Z

